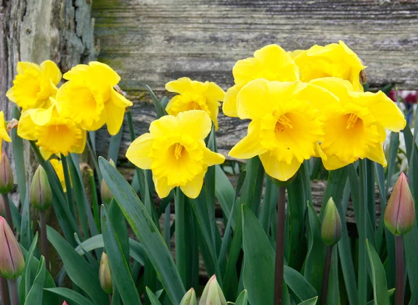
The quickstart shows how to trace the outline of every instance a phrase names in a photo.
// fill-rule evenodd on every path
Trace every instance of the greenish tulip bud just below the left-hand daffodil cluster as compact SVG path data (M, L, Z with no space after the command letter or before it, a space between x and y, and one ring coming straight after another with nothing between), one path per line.
M29 202L38 210L46 210L52 205L52 190L49 186L47 172L42 166L33 175L31 189L29 191Z

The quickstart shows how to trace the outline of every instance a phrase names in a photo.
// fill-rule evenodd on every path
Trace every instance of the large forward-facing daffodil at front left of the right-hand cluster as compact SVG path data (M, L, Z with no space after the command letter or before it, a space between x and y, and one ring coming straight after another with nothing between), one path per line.
M238 94L238 116L251 119L248 134L229 152L239 159L259 155L265 172L286 181L323 137L318 108L336 102L324 88L300 81L256 79Z

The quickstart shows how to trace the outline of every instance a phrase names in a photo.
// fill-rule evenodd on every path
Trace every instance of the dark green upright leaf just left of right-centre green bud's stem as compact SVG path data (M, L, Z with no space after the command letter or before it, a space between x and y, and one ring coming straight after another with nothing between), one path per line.
M325 265L325 244L320 236L320 221L316 210L308 203L308 253L304 266L304 277L320 291ZM356 299L357 301L357 299Z

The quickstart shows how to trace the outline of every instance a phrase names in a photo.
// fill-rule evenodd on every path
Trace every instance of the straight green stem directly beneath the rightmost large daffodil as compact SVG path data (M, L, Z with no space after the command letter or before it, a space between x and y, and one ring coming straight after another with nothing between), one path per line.
M366 304L367 300L367 250L366 250L366 226L367 226L367 169L366 159L359 160L359 262L358 262L358 295L357 304Z

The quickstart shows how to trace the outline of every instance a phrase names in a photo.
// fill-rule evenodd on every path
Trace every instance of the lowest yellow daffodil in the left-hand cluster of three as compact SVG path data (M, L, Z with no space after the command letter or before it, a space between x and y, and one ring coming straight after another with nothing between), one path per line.
M29 109L22 113L17 134L30 141L37 141L42 155L82 153L86 146L86 131L70 118L59 116L56 103L48 109Z

